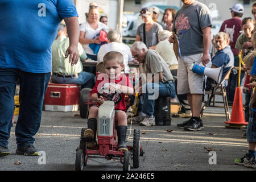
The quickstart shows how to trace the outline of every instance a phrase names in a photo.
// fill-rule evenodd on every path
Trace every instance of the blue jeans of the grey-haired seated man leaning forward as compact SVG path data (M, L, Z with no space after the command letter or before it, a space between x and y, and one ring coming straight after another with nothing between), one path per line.
M143 92L146 91L145 92ZM158 91L157 91L158 90ZM158 94L157 94L158 92ZM175 98L175 86L173 81L169 81L165 84L159 82L155 83L147 83L142 86L142 112L147 114L148 116L154 115L154 106L155 100L157 97L173 97Z

